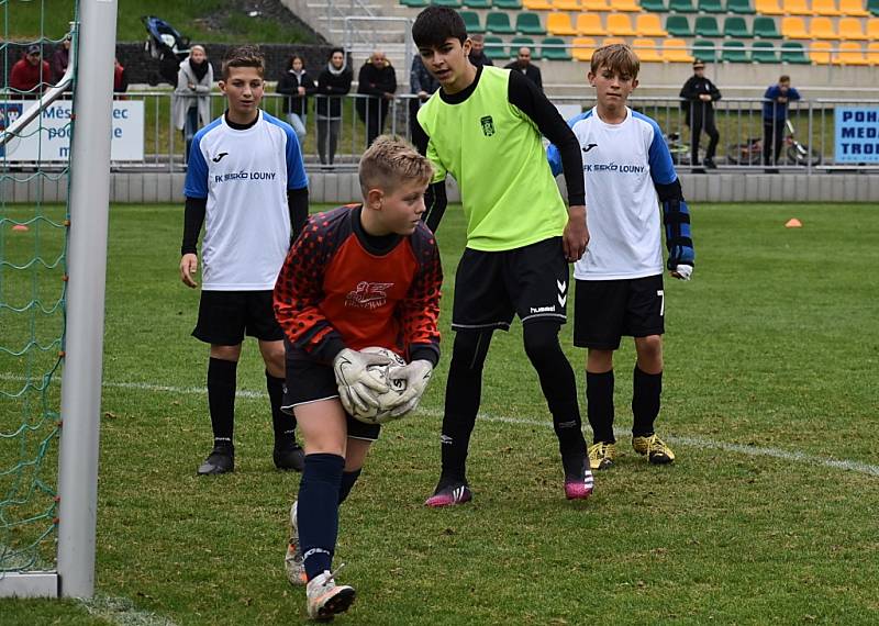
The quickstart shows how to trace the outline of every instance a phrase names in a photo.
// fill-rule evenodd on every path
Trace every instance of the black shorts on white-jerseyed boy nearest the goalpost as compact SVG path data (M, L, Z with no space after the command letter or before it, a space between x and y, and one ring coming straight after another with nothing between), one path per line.
M192 336L218 346L237 346L245 335L279 342L283 331L275 320L271 298L270 290L202 291Z

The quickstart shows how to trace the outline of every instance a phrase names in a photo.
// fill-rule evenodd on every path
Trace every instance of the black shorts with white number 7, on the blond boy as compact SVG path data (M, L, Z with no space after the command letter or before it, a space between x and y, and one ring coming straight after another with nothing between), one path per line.
M577 280L574 345L615 350L623 335L665 333L663 275L621 280Z

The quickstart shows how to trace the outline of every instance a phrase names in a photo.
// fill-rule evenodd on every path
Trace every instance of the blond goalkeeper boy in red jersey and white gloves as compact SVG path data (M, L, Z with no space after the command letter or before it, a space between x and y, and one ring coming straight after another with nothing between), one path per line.
M285 559L293 584L307 584L308 613L325 619L348 608L354 589L332 571L338 505L351 492L380 426L352 417L378 406L386 383L370 365L389 348L407 359L390 370L405 391L392 416L414 409L439 359L436 242L421 221L433 170L398 137L378 137L360 159L363 203L313 215L294 242L275 286L275 314L287 347L287 394L305 439L299 499Z

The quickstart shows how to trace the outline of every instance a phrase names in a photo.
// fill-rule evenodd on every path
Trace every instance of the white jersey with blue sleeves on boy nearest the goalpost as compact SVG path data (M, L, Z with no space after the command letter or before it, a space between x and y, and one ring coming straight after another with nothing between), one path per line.
M208 200L202 289L274 289L290 247L287 190L305 187L293 128L264 111L245 130L223 115L196 133L183 192Z

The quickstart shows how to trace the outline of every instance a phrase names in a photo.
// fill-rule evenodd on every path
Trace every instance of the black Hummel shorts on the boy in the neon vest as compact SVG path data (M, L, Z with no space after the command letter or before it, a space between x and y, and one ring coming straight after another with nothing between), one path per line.
M561 237L489 253L465 248L455 273L452 328L507 331L522 323L567 320L568 261Z

